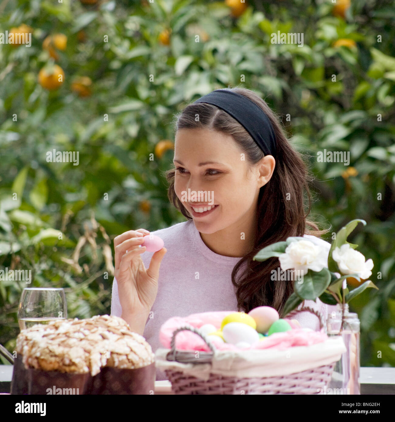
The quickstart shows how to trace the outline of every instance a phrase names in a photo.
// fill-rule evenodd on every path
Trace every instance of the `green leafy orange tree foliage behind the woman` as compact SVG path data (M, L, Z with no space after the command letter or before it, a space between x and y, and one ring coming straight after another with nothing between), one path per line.
M109 314L112 239L184 221L162 174L172 151L150 161L155 144L174 139L172 117L187 103L247 87L310 153L322 227L368 223L349 238L373 259L380 289L351 302L361 365L395 365L395 9L351 0L342 19L332 8L330 0L250 1L234 18L224 2L203 0L0 2L0 32L33 28L30 48L0 44L0 269L31 269L29 287L64 287L69 317ZM158 41L166 28L168 46ZM304 45L270 43L278 30L302 32ZM37 76L49 60L42 42L56 32L68 37L57 60L65 80L49 92ZM339 38L357 46L333 47ZM75 76L92 79L90 97L71 91ZM79 165L46 162L53 149L79 151ZM324 149L350 151L352 171L317 162ZM0 281L0 343L10 351L24 287Z

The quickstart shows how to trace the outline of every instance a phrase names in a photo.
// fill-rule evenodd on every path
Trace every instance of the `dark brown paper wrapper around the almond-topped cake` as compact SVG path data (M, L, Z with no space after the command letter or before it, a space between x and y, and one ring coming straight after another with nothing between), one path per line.
M59 390L58 392L56 390L60 388L62 394L146 395L153 394L155 387L155 362L135 369L104 367L98 374L92 376L90 373L26 369L22 359L22 355L18 354L14 360L11 394L60 394Z

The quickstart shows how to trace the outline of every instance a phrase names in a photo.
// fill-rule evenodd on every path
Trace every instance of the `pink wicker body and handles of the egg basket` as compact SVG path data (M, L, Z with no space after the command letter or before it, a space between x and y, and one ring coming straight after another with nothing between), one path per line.
M302 307L300 310L291 311L287 317L291 317L301 311L309 311L316 315L319 318L320 329L324 327L326 333L326 325L323 322L322 315L308 306ZM196 358L194 352L176 351L175 337L177 333L183 330L190 330L198 334L207 343L212 352L199 352L199 358ZM214 350L213 344L207 340L199 329L183 326L174 330L171 351L166 355L166 359L199 365L211 362ZM179 370L165 369L165 373L172 383L174 394L319 394L319 391L324 389L329 383L334 366L335 362L332 362L329 365L285 376L259 378L237 378L210 373L209 378L204 380L186 375Z

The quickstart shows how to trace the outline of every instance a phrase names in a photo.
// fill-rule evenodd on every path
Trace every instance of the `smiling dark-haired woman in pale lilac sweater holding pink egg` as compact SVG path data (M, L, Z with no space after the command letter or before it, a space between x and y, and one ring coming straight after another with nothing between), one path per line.
M141 247L147 230L114 239L111 314L144 335L154 352L161 325L174 316L272 306L282 317L294 283L273 279L277 258L259 262L254 255L289 236L330 248L315 237L324 231L306 219L306 166L254 92L215 90L185 107L176 117L174 166L166 173L169 199L188 221L151 233L165 245L155 253ZM324 318L335 309L316 302L305 305ZM308 312L295 319L319 328Z

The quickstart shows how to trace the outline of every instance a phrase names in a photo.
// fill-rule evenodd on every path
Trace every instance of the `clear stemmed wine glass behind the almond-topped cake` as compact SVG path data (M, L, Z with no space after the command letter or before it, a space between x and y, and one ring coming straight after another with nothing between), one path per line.
M67 318L64 289L53 287L27 287L23 289L18 308L19 328L47 324L54 319Z

